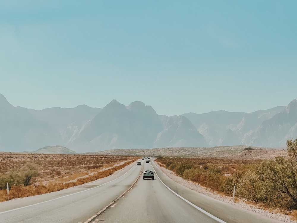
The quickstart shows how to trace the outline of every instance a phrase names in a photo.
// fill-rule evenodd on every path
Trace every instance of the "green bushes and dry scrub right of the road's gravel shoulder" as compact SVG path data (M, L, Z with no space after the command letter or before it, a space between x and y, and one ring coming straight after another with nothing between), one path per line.
M218 193L266 208L297 210L297 139L287 141L289 158L243 160L219 158L159 158L159 164L184 179Z

